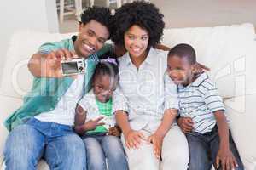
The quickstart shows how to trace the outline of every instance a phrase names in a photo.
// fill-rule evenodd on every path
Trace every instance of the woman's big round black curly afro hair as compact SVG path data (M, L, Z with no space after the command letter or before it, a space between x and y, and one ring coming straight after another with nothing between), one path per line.
M125 3L113 16L111 39L116 45L125 47L124 36L131 26L137 25L148 31L148 48L160 42L165 27L163 14L153 3L135 1Z

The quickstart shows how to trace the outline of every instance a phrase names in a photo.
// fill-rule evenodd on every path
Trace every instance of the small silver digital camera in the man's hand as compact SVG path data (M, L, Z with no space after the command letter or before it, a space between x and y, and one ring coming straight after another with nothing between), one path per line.
M61 61L61 71L63 76L84 74L86 64L83 58Z

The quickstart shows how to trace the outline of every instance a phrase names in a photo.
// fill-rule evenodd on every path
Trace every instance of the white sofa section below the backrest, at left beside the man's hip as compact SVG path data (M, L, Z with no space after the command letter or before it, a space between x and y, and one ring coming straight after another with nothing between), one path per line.
M10 113L15 111L17 108L20 107L20 105L22 105L22 99L0 95L0 105L0 156L3 156L3 147L8 135L8 130L3 126L3 122Z

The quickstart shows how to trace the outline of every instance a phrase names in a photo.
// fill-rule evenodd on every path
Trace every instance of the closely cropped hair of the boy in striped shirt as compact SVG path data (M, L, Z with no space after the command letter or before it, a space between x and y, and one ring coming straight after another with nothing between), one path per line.
M172 57L174 55L187 59L190 65L194 65L196 63L195 49L187 43L180 43L174 46L169 51L168 57Z

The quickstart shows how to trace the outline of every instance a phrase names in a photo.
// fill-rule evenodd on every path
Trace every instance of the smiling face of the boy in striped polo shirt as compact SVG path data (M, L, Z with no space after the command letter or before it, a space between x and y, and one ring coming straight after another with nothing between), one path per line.
M194 65L191 65L186 58L177 55L168 56L167 72L174 83L189 85L193 79L193 69Z

